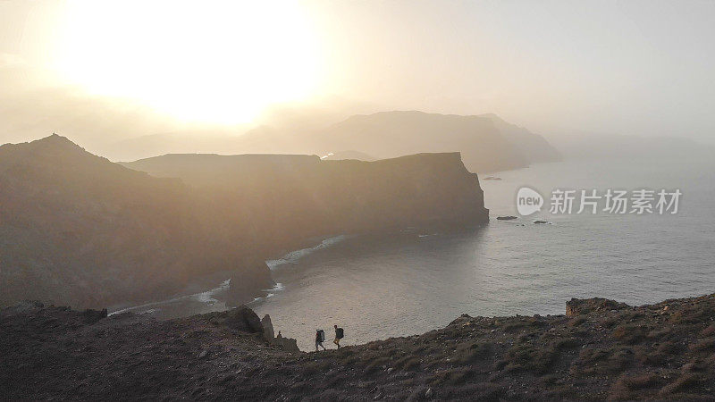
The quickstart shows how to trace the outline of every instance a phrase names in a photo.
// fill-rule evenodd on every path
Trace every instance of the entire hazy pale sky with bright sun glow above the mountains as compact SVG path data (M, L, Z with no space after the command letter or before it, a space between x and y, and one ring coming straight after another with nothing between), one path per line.
M304 108L715 143L712 21L713 1L0 0L0 142L239 134Z

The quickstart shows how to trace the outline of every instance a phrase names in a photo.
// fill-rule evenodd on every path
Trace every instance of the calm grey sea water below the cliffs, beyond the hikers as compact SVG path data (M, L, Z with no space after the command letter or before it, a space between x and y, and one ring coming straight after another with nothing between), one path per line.
M279 289L251 304L276 331L314 348L338 324L346 344L411 335L470 315L563 314L571 297L629 304L715 292L715 163L568 161L482 180L491 222L468 233L403 232L328 239L269 262ZM679 188L679 212L543 212L516 221L517 188ZM543 219L551 224L534 224ZM222 288L214 291L220 292ZM162 315L221 310L211 292L142 307ZM329 344L330 342L326 343Z

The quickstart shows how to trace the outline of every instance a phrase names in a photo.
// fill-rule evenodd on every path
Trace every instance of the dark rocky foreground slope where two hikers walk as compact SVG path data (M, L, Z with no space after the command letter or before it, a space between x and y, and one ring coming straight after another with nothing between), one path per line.
M423 335L317 353L288 352L257 317L234 312L156 322L5 308L0 398L712 400L715 389L715 295L463 315Z

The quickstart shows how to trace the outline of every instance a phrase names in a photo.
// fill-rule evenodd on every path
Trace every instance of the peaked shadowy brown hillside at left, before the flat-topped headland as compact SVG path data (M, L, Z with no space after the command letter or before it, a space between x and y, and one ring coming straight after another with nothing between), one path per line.
M180 180L131 171L67 138L0 147L0 304L105 306L180 288L211 264L191 205Z

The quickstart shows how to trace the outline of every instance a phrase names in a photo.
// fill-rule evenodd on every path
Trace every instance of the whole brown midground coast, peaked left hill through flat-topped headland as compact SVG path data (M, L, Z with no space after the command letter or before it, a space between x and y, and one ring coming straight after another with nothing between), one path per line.
M166 166L183 159L156 158ZM187 185L59 136L0 147L0 304L139 303L214 272L249 284L233 293L240 303L272 286L266 257L311 236L468 227L486 218L475 175L458 155L374 164L304 155L191 159L186 174L169 174Z

